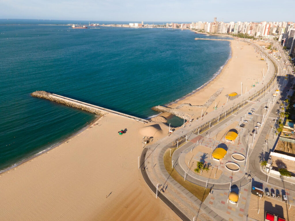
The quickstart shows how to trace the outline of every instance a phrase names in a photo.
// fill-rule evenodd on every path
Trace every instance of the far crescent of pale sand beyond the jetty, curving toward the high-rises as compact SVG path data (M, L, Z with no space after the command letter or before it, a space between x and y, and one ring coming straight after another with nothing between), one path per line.
M178 111L188 114L189 116L201 117L203 113L211 112L214 110L215 103L217 108L222 108L227 103L227 95L232 92L236 92L241 95L241 82L242 93L244 94L249 90L255 90L251 85L256 85L255 82L263 83L263 68L267 71L267 65L265 61L260 60L260 55L256 53L251 45L245 42L237 40L230 40L232 47L232 57L224 65L221 73L210 81L204 88L186 96L176 103L172 103L169 107L176 108L183 103L189 103L191 105L204 105L204 103L215 93L219 88L224 88L221 94L216 100L208 107L197 108L190 106L183 106ZM248 92L249 93L249 92Z

